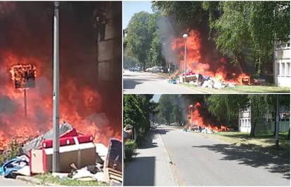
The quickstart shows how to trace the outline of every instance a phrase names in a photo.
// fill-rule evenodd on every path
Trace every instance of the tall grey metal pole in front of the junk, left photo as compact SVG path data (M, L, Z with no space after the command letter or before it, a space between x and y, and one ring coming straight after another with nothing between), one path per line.
M53 172L59 172L59 39L58 39L58 6L59 2L54 2L53 14Z

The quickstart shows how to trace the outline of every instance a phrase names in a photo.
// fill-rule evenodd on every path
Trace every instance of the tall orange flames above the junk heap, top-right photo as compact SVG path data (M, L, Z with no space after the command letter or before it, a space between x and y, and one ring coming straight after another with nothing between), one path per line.
M220 60L216 60L216 62L210 62L207 60L207 57L202 57L201 54L201 37L200 32L197 30L188 31L188 38L186 40L187 46L187 59L186 59L186 67L187 70L193 71L194 74L202 74L203 76L211 76L213 78L219 79L224 82L235 82L237 84L250 84L246 81L243 81L242 78L248 78L250 80L250 76L247 74L240 72L234 67L226 68L226 60L222 57ZM178 52L181 57L180 60L180 68L184 70L184 48L185 41L182 37L176 38L172 41L171 45L172 50Z

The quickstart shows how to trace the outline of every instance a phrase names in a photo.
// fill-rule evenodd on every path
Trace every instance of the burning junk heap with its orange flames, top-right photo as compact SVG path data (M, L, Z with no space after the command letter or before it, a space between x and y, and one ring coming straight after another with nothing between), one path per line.
M226 59L209 60L201 53L202 43L200 32L190 30L186 39L186 78L185 73L177 71L169 78L169 83L189 83L202 88L221 89L235 87L236 85L250 85L250 76L243 73L242 69L235 68L226 63ZM180 69L184 71L184 39L177 38L172 41L172 50L181 57ZM183 57L183 58L182 58Z

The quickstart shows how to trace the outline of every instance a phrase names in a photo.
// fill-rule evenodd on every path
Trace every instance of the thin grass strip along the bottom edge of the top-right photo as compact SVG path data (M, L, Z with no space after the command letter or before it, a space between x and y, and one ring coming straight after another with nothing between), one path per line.
M186 86L187 88L192 88L193 90L198 90L205 93L266 93L266 92L281 92L289 93L290 88L278 87L275 85L236 85L234 88L222 88L221 90L211 89L211 88L201 88L194 85L189 85L188 83L181 83L180 85Z

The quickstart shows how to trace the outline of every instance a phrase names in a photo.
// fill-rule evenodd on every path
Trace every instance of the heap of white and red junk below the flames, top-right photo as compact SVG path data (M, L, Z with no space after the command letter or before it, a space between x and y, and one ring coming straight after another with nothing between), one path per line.
M185 81L185 74L180 74L180 71L176 71L169 79L168 82L172 84L179 84ZM240 80L242 84L250 85L250 77L245 76ZM195 74L193 71L186 71L186 83L189 85L202 87L202 88L211 88L211 89L222 89L226 87L235 87L237 83L235 82L226 82L221 78L214 78L211 76L203 76L202 74Z

